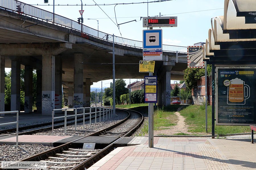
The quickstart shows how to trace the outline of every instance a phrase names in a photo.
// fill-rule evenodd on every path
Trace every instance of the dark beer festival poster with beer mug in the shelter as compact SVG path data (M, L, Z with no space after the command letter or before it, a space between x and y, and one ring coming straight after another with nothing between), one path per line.
M256 67L216 67L216 125L255 125Z

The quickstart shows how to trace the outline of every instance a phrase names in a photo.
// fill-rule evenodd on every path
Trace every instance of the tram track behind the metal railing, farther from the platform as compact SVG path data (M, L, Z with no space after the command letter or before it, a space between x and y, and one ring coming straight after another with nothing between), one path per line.
M99 115L97 116L97 118ZM91 115L91 119L93 120L95 118L95 115ZM89 116L85 117L85 121L90 120ZM73 125L75 122L75 118L69 118L67 119L67 126L68 125ZM77 116L77 123L83 122L83 116ZM58 120L54 122L54 129L64 127L64 119L63 120ZM31 135L34 133L37 133L39 131L46 131L46 130L51 130L52 128L52 122L48 123L43 123L43 124L37 124L37 125L31 125L31 126L24 126L20 127L18 134L19 135ZM6 135L15 135L16 134L16 128L13 129L5 129L5 130L0 130L0 134L6 134Z

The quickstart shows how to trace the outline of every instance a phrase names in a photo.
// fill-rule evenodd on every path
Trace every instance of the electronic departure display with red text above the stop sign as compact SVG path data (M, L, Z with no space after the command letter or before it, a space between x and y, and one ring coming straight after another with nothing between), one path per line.
M177 27L177 16L143 17L143 27Z

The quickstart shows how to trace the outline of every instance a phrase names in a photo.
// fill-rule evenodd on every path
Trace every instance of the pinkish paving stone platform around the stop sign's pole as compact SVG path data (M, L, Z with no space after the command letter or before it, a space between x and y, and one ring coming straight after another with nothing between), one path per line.
M140 145L116 148L88 170L256 169L256 144L241 139L154 137L154 148L148 137L131 143Z

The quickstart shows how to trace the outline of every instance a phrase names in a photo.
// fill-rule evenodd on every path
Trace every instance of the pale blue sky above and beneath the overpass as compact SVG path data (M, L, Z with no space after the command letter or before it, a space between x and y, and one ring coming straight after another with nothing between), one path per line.
M20 0L27 4L44 4L44 0ZM114 4L114 3L137 3L137 2L150 2L151 0L94 0L98 5L100 4ZM162 27L163 29L163 44L176 45L176 46L189 46L197 42L205 42L208 37L208 29L211 27L210 20L212 17L221 16L224 13L224 0L172 0L160 3L144 3L144 4L131 4L131 5L105 5L100 6L102 10L113 20L110 20L108 16L95 4L93 0L82 0L83 4L83 18L84 25L97 29L97 21L99 20L99 30L110 35L114 34L123 38L142 41L142 30L146 29L142 27L142 21L140 17L157 16L159 12L163 16L177 16L177 27ZM53 4L53 0L49 0L49 4ZM80 0L55 0L55 5L81 5ZM38 6L53 12L53 6ZM115 11L114 11L115 7ZM219 9L221 8L221 9ZM79 10L81 6L55 6L55 13L67 18L77 21L80 17ZM147 14L148 13L148 14ZM116 19L115 19L116 14ZM87 18L96 20L87 20ZM120 25L119 29L115 25L116 20L118 24L128 22L131 20L137 20L137 22L129 22L127 24ZM154 28L158 29L158 28ZM120 35L120 32L121 35ZM127 84L129 79L125 79ZM136 79L131 80L131 82ZM104 80L103 86L109 86L106 84L112 82L112 80ZM173 80L171 81L173 83ZM101 81L94 83L91 87L101 87Z

